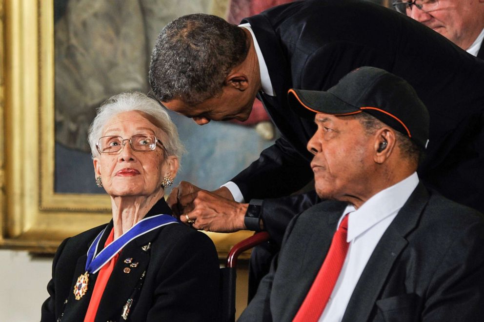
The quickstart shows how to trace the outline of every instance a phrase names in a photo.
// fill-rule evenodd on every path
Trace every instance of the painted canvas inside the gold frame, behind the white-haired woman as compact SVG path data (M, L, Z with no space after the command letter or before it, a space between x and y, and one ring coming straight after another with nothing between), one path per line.
M56 193L104 193L94 182L87 143L96 108L120 92L149 93L150 54L161 28L184 14L208 13L213 5L212 0L54 2ZM273 143L252 127L223 122L201 127L170 115L188 151L177 179L206 189L230 180Z

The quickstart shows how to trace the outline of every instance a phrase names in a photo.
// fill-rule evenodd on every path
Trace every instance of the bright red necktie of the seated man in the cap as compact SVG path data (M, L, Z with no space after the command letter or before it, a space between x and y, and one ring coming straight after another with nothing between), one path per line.
M346 242L348 233L348 215L344 216L340 227L333 236L328 254L324 259L316 279L314 280L306 298L302 302L293 322L316 322L323 314L334 285L340 276L349 243Z

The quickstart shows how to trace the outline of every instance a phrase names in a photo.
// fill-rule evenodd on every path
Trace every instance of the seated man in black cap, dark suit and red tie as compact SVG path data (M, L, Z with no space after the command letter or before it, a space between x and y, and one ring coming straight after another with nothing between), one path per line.
M328 201L290 222L239 321L482 321L484 220L419 182L429 117L413 88L362 67L289 101L318 126Z

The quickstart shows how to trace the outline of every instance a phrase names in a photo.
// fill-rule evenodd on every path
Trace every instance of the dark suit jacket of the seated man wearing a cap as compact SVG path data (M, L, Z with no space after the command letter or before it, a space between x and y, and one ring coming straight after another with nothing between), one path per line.
M294 218L239 321L291 321L329 249L346 204L323 201ZM482 321L484 220L420 183L378 242L343 322Z

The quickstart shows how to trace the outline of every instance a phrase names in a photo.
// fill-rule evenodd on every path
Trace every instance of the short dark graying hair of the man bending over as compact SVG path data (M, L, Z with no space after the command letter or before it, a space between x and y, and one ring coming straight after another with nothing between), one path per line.
M242 28L220 17L192 14L168 23L151 55L149 82L162 102L199 104L222 93L223 81L247 57Z

